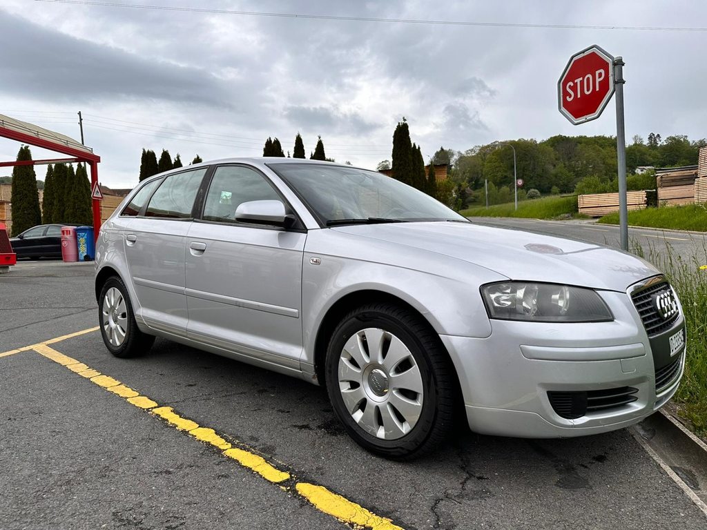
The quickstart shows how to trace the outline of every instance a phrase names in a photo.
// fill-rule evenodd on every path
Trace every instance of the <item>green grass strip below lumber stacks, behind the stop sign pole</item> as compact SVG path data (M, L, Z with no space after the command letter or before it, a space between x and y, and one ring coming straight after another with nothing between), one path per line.
M619 213L609 213L597 223L618 225ZM707 232L707 208L705 204L687 204L629 211L629 225Z

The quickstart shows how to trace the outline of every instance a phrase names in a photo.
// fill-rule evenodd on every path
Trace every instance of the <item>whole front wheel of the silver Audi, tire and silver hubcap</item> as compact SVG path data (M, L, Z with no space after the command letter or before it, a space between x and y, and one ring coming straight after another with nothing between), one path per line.
M450 362L433 329L410 310L372 304L347 314L329 341L325 370L334 412L370 452L416 458L450 430Z

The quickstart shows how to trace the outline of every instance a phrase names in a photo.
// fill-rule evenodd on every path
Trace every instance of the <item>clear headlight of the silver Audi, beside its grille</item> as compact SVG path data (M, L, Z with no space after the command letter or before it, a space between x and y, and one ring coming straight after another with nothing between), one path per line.
M553 283L506 281L481 287L489 317L533 322L609 322L614 315L595 291Z

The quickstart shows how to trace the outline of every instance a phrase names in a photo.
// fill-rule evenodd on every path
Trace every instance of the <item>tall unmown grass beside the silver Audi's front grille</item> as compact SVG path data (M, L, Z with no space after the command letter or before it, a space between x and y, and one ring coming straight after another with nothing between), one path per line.
M703 255L689 261L670 245L667 252L651 247L647 256L638 245L632 251L664 271L680 298L687 328L687 354L685 375L673 401L696 434L707 436L707 247Z

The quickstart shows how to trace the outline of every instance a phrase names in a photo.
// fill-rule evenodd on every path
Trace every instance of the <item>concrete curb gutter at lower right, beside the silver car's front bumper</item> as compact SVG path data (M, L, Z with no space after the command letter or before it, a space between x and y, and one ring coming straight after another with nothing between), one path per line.
M707 444L662 410L629 431L707 516Z

